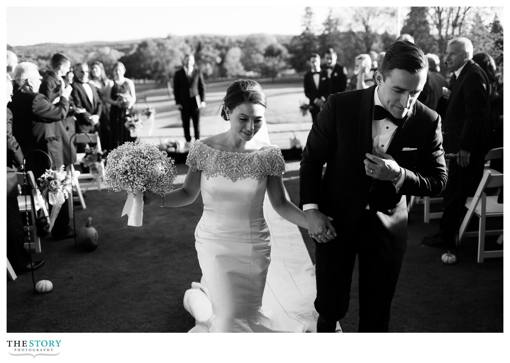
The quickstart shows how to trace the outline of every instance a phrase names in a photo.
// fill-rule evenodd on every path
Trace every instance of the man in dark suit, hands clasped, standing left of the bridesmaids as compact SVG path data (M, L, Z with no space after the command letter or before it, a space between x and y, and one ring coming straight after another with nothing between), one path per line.
M75 114L76 132L91 133L98 129L101 102L96 88L89 83L89 66L80 63L74 67L75 80L72 82L71 96L76 108L83 110ZM83 152L83 151L79 151Z

